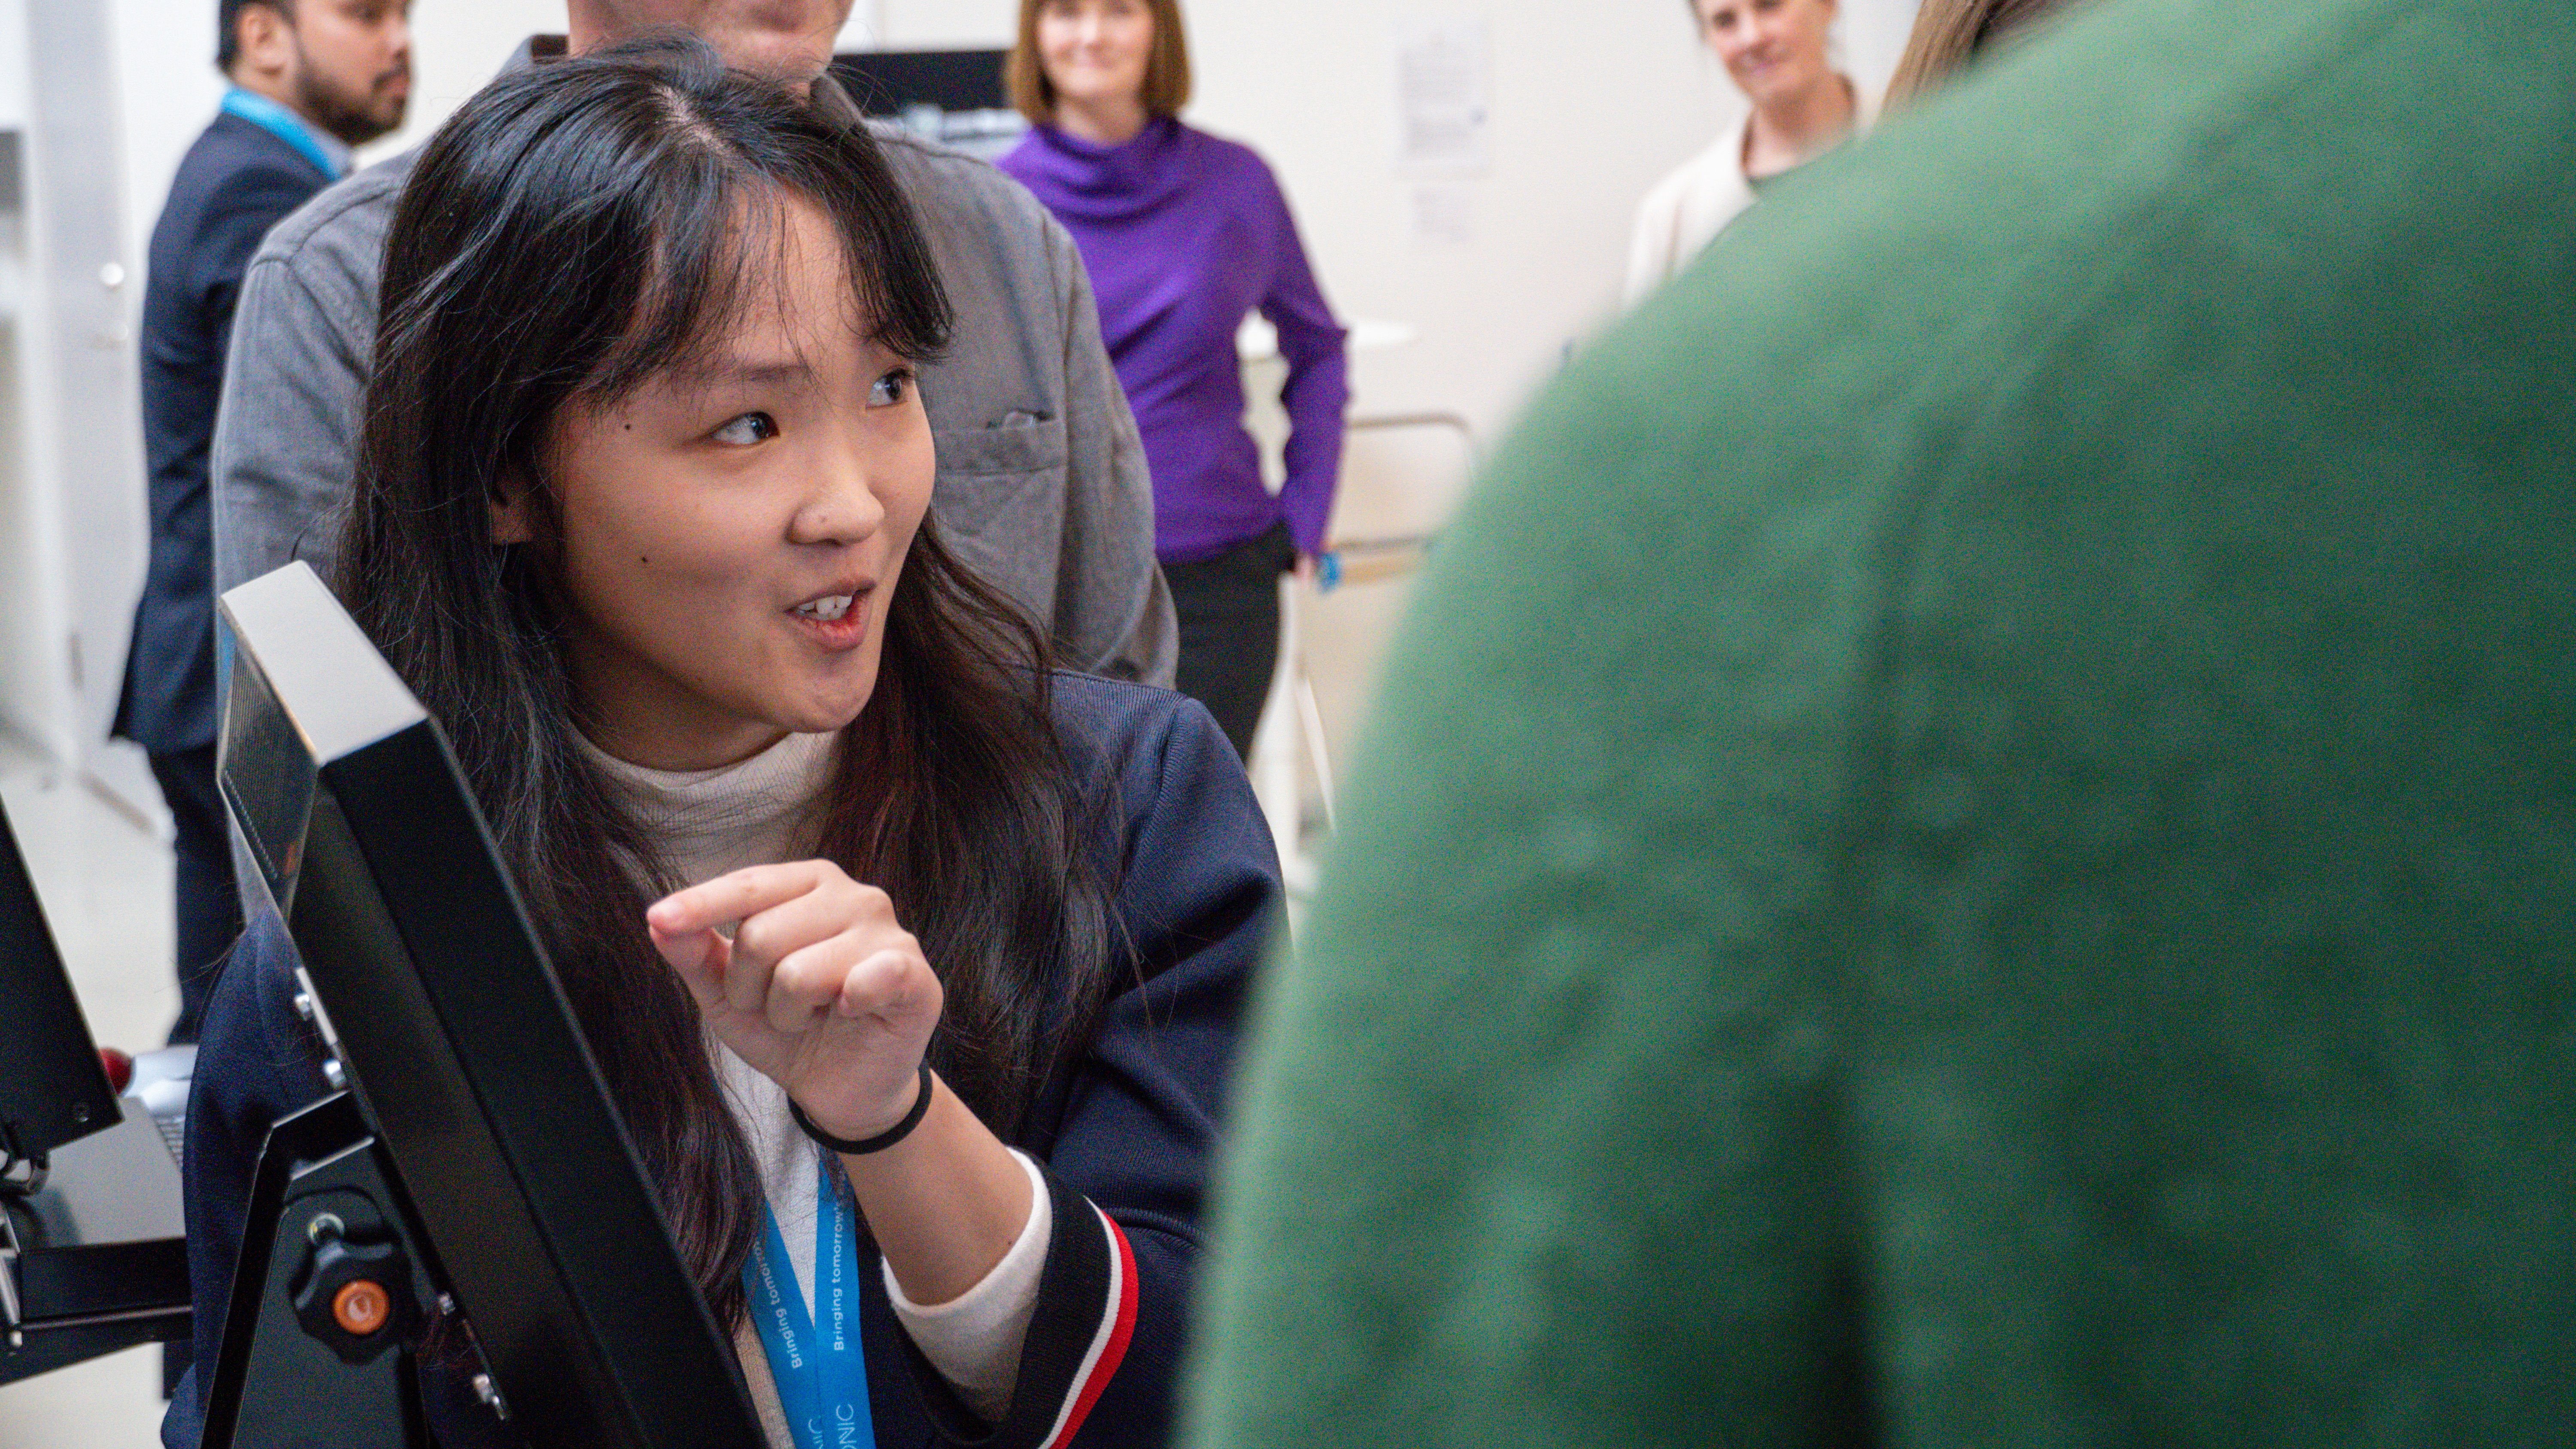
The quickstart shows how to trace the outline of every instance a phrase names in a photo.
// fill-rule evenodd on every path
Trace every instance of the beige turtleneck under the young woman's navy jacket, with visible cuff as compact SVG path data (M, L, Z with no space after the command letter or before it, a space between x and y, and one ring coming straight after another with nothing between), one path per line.
M721 770L644 770L595 746L585 749L608 775L626 811L659 842L657 862L683 885L703 885L747 865L804 860L822 829L824 788L832 780L835 734L791 734L770 749ZM641 927L636 927L641 929ZM737 1058L714 1037L716 1081L724 1084L742 1127L742 1140L760 1168L760 1184L778 1235L788 1246L788 1266L799 1292L814 1302L814 1156L822 1150L788 1117L786 1091ZM989 1421L1010 1408L1010 1387L1020 1367L1020 1343L1038 1305L1038 1271L1046 1266L1054 1212L1036 1163L1020 1156L1030 1179L1028 1225L984 1282L963 1297L922 1307L904 1297L894 1271L884 1269L894 1315L958 1398ZM734 1351L742 1354L752 1405L768 1431L770 1449L796 1449L768 1354L750 1323L734 1325Z

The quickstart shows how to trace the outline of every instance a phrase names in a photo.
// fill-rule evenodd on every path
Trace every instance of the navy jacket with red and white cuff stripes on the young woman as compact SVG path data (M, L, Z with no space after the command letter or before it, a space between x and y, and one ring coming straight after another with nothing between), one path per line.
M1113 790L1115 914L1133 947L1079 1068L1012 1143L1048 1176L1056 1233L1010 1418L984 1426L858 1274L881 1446L1149 1446L1170 1439L1198 1266L1208 1161L1244 988L1273 927L1278 854L1244 767L1208 713L1167 690L1064 674L1056 726L1084 780ZM196 1361L162 1421L193 1449L222 1343L242 1212L268 1127L319 1099L319 1042L296 1014L296 957L276 916L224 965L188 1109L188 1266ZM1095 1215L1092 1207L1100 1212ZM440 1444L510 1446L461 1385L425 1374ZM747 1446L750 1449L750 1446Z

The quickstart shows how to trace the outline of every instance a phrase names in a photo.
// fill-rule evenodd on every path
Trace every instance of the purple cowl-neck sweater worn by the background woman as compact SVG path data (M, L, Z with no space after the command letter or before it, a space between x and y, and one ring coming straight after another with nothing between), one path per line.
M1172 118L1097 147L1038 126L1002 157L1082 250L1100 332L1154 471L1154 553L1188 564L1288 520L1324 548L1350 404L1342 324L1306 268L1288 198L1249 147ZM1260 309L1288 360L1288 481L1262 486L1234 329Z

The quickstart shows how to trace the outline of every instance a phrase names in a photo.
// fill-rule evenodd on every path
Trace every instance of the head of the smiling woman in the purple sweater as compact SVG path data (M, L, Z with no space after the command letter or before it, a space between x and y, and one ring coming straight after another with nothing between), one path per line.
M1005 80L1041 126L1061 111L1177 116L1190 103L1180 0L1020 0Z

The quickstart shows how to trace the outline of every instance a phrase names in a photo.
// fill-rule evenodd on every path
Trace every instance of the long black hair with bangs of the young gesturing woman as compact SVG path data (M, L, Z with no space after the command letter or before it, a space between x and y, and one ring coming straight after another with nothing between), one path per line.
M546 533L549 425L685 365L768 283L801 198L840 232L853 314L920 360L948 335L876 144L688 36L502 77L430 139L384 252L340 595L446 726L698 1287L732 1320L760 1179L698 1011L644 932L659 852L577 741ZM768 219L768 224L762 224ZM520 481L538 540L495 546ZM1046 638L925 520L876 695L842 734L819 854L881 885L945 988L930 1063L999 1135L1079 1053L1113 927L1056 741Z

